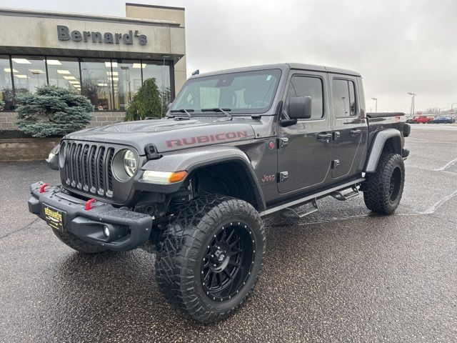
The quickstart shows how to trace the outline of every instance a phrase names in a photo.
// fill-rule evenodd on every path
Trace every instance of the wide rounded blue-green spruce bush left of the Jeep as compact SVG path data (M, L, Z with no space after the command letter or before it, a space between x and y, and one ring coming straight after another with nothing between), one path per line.
M17 125L34 137L64 136L91 122L91 101L70 89L39 86L17 97Z

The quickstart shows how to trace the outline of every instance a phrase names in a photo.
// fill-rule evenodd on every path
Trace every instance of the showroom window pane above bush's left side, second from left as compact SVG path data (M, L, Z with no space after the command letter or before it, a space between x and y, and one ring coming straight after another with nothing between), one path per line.
M16 95L22 91L34 93L37 86L47 83L44 57L11 56L11 59Z

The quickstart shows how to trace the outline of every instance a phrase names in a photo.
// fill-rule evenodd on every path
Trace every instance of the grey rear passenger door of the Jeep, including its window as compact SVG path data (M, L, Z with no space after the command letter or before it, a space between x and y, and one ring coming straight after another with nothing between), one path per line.
M333 117L333 179L350 177L358 169L364 133L356 76L328 74Z

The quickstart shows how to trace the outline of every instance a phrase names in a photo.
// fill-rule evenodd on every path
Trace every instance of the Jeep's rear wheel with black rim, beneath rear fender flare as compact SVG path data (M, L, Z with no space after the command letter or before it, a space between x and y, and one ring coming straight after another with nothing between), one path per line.
M400 204L405 183L405 164L399 154L381 154L376 172L366 174L363 200L378 214L392 214Z

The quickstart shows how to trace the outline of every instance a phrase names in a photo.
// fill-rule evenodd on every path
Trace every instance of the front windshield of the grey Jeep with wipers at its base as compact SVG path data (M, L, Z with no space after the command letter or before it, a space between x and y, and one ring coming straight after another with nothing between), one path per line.
M170 110L194 110L194 114L201 109L263 113L271 107L280 77L281 69L268 69L189 79Z

